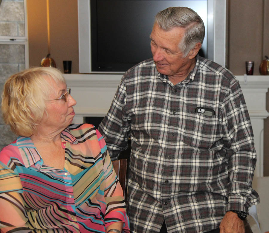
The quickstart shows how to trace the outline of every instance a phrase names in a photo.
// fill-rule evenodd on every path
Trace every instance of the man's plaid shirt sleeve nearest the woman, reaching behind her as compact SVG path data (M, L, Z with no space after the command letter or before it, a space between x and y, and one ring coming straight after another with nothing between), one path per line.
M130 117L126 114L126 86L124 76L120 81L110 109L98 130L104 136L112 160L127 149L130 136Z

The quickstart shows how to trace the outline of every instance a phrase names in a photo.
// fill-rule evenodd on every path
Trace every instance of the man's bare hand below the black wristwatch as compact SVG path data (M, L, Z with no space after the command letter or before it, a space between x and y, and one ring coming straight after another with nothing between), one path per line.
M226 212L219 229L220 233L245 233L244 221L238 218L237 213L232 211Z

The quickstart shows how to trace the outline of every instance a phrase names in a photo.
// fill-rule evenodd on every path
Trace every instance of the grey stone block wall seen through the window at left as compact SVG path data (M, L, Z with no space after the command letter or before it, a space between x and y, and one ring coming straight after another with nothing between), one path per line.
M0 6L0 36L25 36L24 1L3 0ZM0 93L10 75L25 69L25 45L6 43L0 38ZM2 100L2 99L1 99ZM0 150L16 139L0 111Z

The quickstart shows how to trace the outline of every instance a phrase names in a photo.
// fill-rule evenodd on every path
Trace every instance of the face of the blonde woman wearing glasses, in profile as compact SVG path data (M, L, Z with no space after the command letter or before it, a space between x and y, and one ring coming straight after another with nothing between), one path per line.
M44 114L41 125L51 133L56 131L62 132L62 130L72 123L75 116L73 106L77 102L71 95L68 95L67 102L64 99L60 99L67 91L65 83L57 84L51 78L46 77L46 79L51 87L51 93L49 100L46 101L48 114Z

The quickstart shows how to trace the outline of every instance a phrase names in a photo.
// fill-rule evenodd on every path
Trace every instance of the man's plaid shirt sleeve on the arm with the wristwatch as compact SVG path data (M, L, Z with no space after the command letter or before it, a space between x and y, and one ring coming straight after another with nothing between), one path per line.
M236 82L222 106L222 128L228 162L228 210L248 212L259 203L259 195L252 189L256 166L253 131L240 85Z

